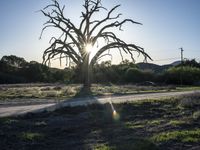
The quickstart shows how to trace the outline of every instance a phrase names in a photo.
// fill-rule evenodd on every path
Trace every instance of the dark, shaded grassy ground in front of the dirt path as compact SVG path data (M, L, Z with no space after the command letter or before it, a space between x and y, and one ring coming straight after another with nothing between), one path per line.
M187 101L187 102L186 102ZM187 103L190 103L187 105ZM200 148L200 94L0 119L3 150Z

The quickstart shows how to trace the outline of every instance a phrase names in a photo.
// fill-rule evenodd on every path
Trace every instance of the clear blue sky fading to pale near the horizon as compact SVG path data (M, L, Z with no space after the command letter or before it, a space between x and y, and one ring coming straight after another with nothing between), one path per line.
M75 24L80 20L84 0L58 0L65 4L65 16ZM16 55L27 61L42 62L50 37L56 34L49 29L39 40L47 18L38 10L51 0L0 0L0 57ZM103 6L122 13L121 19L130 18L143 25L127 23L117 35L127 43L139 45L152 57L150 63L168 64L183 57L200 61L200 0L102 0ZM106 15L105 11L101 15ZM113 63L119 55L113 54ZM136 63L142 61L135 55ZM55 62L55 67L59 67ZM63 65L65 66L65 65Z

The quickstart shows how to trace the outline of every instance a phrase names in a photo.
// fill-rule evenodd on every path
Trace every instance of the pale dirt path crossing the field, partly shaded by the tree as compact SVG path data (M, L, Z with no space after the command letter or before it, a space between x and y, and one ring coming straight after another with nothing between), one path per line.
M89 104L105 104L105 103L123 103L144 99L159 99L164 97L180 96L184 94L192 94L198 91L185 92L167 92L167 93L149 93L149 94L134 94L125 96L110 96L110 97L87 97L87 98L73 98L62 102L52 102L47 104L29 104L29 105L0 105L0 117L23 115L29 112L53 111L65 106L83 106Z

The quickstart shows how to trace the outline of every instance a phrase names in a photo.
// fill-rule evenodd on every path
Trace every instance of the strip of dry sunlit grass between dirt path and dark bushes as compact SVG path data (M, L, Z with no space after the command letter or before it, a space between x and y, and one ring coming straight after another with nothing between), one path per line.
M48 99L49 101L63 100L78 96L80 84L22 84L0 86L0 101L33 101ZM170 91L200 90L200 87L175 87L175 86L135 86L135 85L100 85L93 84L91 96L155 93ZM82 96L82 95L81 95Z

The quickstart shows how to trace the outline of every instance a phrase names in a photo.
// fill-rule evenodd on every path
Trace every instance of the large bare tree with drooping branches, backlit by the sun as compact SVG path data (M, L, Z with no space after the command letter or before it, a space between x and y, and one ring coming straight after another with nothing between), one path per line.
M117 37L111 29L118 28L122 30L122 25L130 22L139 24L132 19L124 19L119 21L122 14L114 15L114 11L120 7L116 5L110 10L102 6L101 0L84 0L84 11L81 12L81 21L79 25L75 25L69 18L64 15L65 6L61 7L57 0L52 0L52 4L46 6L41 10L48 21L44 24L43 31L46 28L54 27L59 29L62 34L60 37L52 37L50 40L50 47L48 47L43 54L43 62L50 63L50 61L59 55L60 61L66 58L70 62L74 62L80 66L83 71L83 84L85 88L89 88L90 71L99 59L105 56L111 56L110 50L118 50L123 59L123 53L130 54L134 61L134 52L142 54L144 59L150 58L145 53L144 49L135 45L127 44L125 41ZM105 11L106 15L103 19L95 19L94 15ZM40 36L40 37L41 37ZM98 48L98 51L91 58L91 52L88 51L89 46L98 47L100 40L105 41L105 45ZM151 59L151 58L150 58Z

